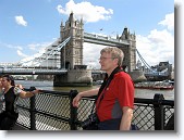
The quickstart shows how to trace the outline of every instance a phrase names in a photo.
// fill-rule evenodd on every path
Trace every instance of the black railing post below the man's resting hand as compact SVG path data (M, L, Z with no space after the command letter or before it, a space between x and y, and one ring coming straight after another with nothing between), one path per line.
M76 97L77 90L70 91L70 106L71 106L71 118L70 118L70 126L71 130L76 130L76 119L77 119L77 109L73 106L72 102L73 99Z

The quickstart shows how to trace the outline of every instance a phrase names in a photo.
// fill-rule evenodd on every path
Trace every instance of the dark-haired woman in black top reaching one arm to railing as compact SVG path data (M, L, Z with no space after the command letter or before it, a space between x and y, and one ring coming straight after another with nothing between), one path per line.
M0 113L0 130L9 130L13 127L19 117L16 109L17 98L30 98L39 90L24 91L15 86L14 78L11 75L1 77L1 89L3 87L4 111Z

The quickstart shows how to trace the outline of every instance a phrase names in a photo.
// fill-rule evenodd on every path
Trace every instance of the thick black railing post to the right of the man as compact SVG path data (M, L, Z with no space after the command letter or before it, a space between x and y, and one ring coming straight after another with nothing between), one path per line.
M155 94L154 97L154 107L155 107L155 130L163 130L164 128L164 111L162 100L164 100L163 94Z

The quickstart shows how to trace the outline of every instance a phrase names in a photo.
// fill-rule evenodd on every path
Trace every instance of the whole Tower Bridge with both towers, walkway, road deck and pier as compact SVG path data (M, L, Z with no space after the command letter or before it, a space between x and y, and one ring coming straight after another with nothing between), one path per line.
M12 66L10 68L1 68L0 73L52 74L54 75L54 86L91 85L91 71L87 69L87 66L83 64L84 42L118 47L124 52L122 65L126 67L126 72L131 74L136 68L135 34L131 34L126 27L120 37L116 36L116 39L85 33L83 20L74 20L74 15L71 13L65 25L61 22L60 37L46 48L45 53L17 64L23 67L25 64L32 63L30 68L20 69ZM42 67L42 71L38 67Z

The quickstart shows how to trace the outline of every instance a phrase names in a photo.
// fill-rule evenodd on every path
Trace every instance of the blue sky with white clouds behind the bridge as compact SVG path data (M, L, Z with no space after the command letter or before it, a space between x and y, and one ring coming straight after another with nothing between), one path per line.
M84 18L86 33L113 37L127 27L147 63L174 65L174 0L1 0L0 63L41 53L59 38L71 11ZM85 43L84 64L98 67L101 48Z

